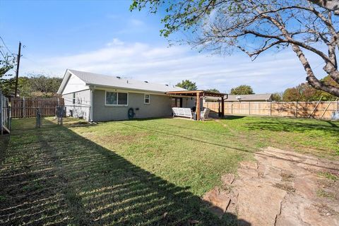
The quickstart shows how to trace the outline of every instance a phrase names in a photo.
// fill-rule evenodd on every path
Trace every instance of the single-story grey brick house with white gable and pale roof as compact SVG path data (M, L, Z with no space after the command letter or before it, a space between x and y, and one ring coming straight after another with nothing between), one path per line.
M196 97L167 94L176 91L185 89L67 69L58 94L64 98L67 116L112 121L170 117L172 107L196 105Z

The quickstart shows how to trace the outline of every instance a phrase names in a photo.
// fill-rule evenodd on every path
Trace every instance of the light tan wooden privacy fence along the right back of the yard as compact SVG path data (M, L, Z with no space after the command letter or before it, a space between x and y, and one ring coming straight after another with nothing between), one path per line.
M220 112L221 103L204 102L203 107ZM331 119L339 110L338 101L326 102L225 102L225 114L266 115L280 117L314 117Z

